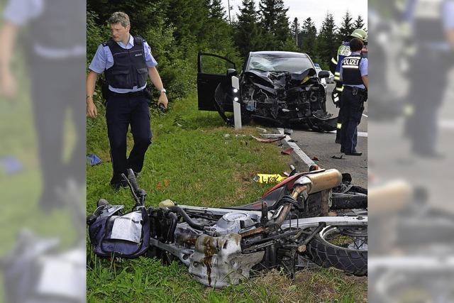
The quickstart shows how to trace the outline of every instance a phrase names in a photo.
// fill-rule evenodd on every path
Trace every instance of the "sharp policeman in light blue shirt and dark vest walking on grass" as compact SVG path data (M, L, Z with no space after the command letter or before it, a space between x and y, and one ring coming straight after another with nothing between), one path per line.
M109 86L106 96L106 122L111 147L114 175L111 186L114 189L126 187L121 174L131 168L135 173L142 170L145 152L151 143L150 110L145 91L148 76L160 90L158 106L167 108L166 91L156 70L157 62L150 52L150 46L143 38L133 37L129 17L126 13L115 12L109 18L111 39L99 45L89 65L87 77L87 116L97 116L93 102L96 78L104 72ZM161 105L162 104L162 105ZM126 158L126 134L131 125L134 146Z

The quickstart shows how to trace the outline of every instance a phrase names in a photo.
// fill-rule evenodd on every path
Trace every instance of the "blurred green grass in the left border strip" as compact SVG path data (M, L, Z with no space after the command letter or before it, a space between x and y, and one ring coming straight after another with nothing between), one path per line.
M38 206L42 190L42 176L38 157L38 137L35 131L33 96L30 94L29 71L24 67L23 52L18 48L13 62L18 91L14 97L0 97L0 158L13 157L22 169L7 173L0 165L1 223L0 258L16 246L19 231L31 231L38 238L57 238L65 250L74 246L77 231L72 214L67 209L49 213ZM65 125L65 157L74 146L74 128L71 120ZM58 228L55 228L58 226ZM0 303L4 302L3 272L0 272Z

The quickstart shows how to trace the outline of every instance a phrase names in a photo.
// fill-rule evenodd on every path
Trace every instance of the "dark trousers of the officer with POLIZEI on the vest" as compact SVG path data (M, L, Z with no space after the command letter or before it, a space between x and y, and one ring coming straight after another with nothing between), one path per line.
M363 97L360 94L353 96L350 89L343 89L343 123L341 128L341 149L344 153L355 153L358 143L358 124L361 122L364 110Z

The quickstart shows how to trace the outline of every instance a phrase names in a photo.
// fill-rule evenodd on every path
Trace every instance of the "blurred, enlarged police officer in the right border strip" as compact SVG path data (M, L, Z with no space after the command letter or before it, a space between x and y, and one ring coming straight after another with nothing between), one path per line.
M443 158L436 148L437 115L454 63L454 1L408 0L402 9L402 29L414 43L404 134L414 155Z

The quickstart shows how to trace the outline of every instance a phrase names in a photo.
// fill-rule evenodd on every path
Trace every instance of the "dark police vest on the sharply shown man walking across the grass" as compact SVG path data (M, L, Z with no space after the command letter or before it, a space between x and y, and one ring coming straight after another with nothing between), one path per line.
M104 71L107 84L116 89L133 89L147 83L148 67L145 63L142 38L135 37L133 48L128 50L112 39L103 45L109 46L114 56L114 66Z

